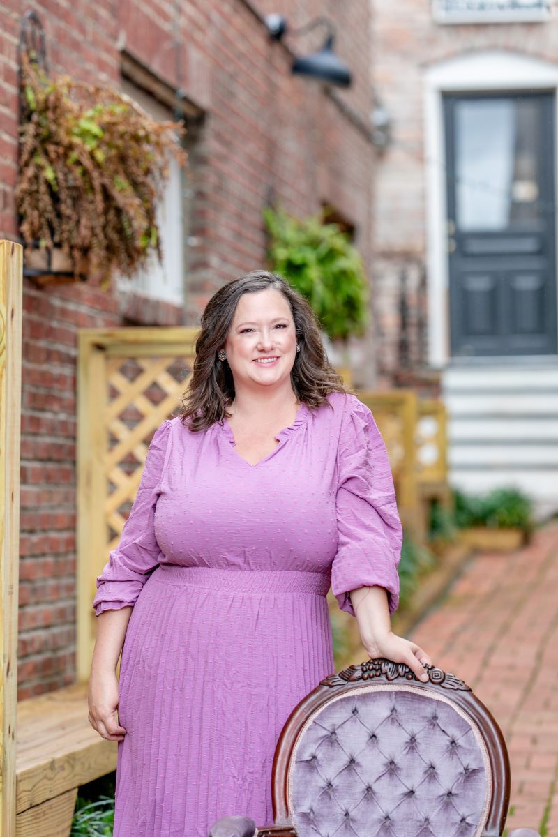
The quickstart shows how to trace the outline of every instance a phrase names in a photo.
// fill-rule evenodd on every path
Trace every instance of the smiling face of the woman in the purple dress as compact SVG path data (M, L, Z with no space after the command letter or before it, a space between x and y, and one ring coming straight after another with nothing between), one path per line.
M243 294L225 341L234 387L276 387L290 381L296 334L289 303L269 288Z

